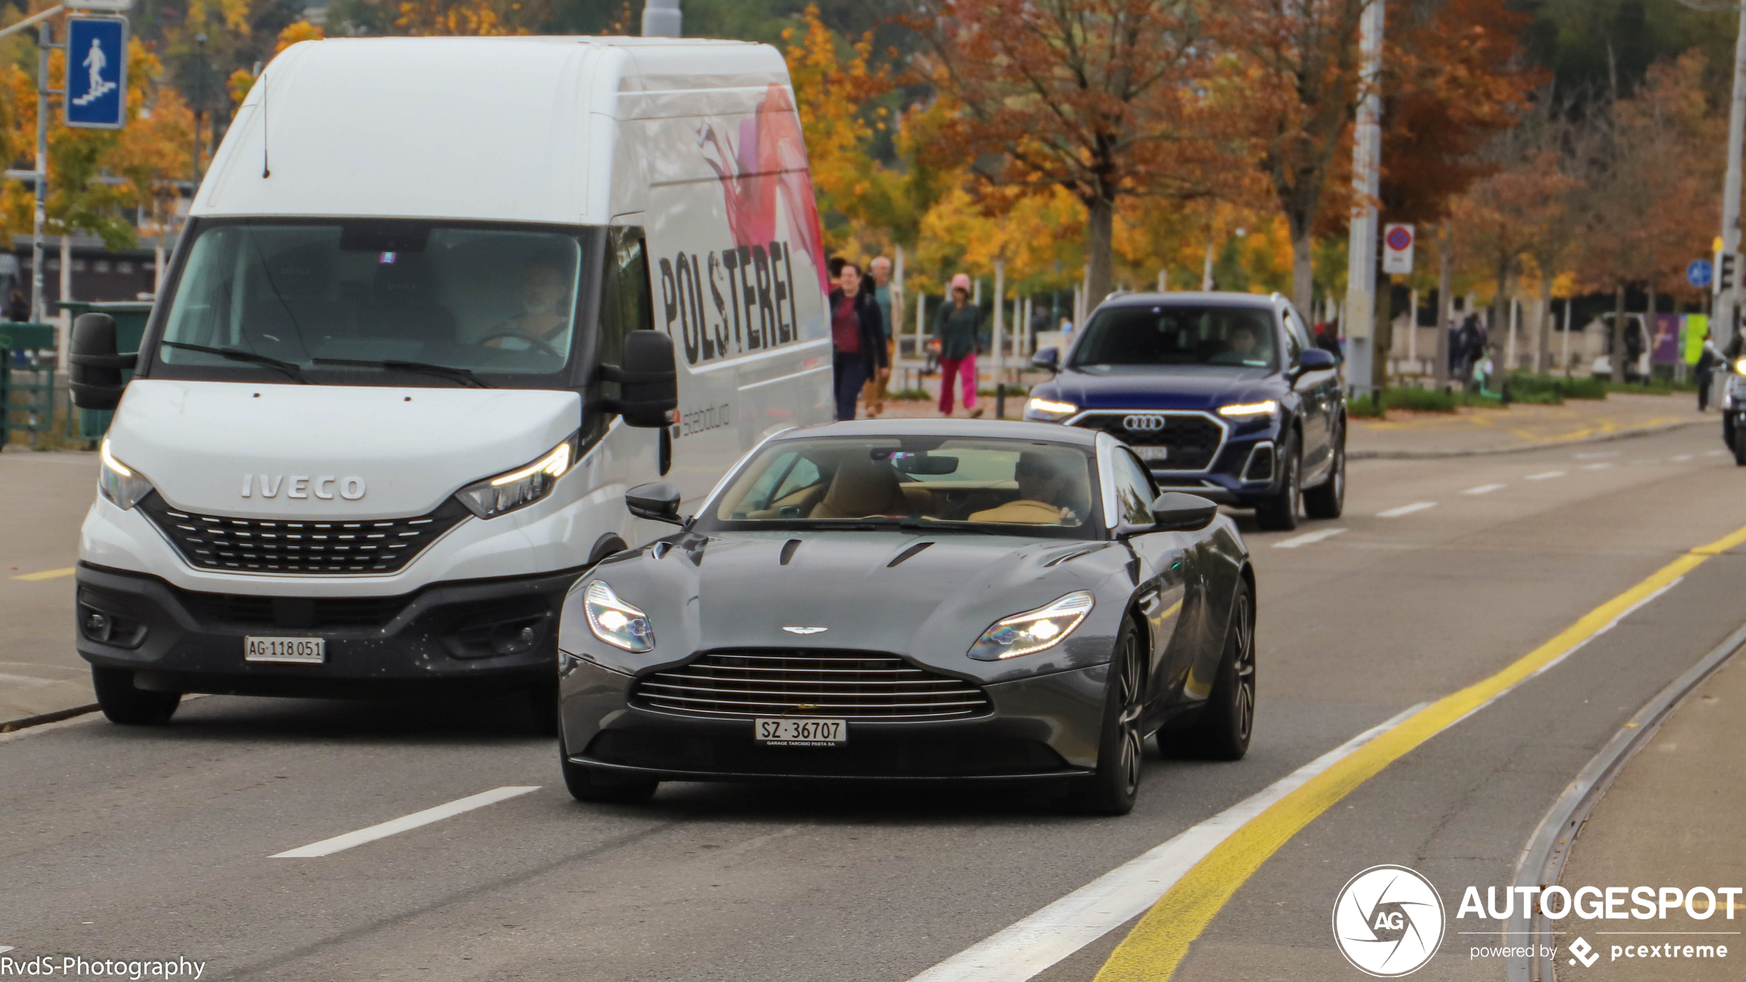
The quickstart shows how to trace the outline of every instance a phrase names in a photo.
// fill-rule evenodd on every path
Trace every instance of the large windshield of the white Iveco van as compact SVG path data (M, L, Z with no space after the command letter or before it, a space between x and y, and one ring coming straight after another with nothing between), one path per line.
M578 347L581 246L571 232L471 223L208 225L176 281L154 373L546 384Z

